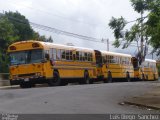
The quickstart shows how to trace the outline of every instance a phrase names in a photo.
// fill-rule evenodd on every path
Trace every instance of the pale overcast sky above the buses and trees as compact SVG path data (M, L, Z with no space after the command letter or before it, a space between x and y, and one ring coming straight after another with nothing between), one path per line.
M133 10L130 0L0 0L0 12L9 10L20 12L30 22L98 39L108 38L110 43L114 40L113 31L108 26L112 16L123 16L128 21L140 17ZM38 29L35 31L41 35L51 35L54 42L59 44L73 43L80 47L107 49L106 43L90 42ZM110 51L134 53L135 49L115 49L110 44Z

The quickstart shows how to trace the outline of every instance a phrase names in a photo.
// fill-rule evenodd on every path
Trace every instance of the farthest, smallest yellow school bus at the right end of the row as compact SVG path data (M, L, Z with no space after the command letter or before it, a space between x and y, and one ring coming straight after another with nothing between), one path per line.
M158 70L156 67L156 61L151 59L145 59L141 65L139 65L137 58L132 58L134 66L134 78L135 80L157 80Z

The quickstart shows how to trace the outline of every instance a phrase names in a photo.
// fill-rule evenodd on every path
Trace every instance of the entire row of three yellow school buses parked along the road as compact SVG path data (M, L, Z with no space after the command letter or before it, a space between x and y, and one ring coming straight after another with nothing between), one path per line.
M141 66L129 54L93 50L40 41L22 41L8 47L10 83L22 88L103 80L157 80L156 61Z

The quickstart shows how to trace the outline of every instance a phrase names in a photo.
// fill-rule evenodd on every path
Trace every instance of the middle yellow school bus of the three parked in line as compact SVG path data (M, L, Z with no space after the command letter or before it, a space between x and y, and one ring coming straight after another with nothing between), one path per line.
M99 71L104 78L104 82L113 82L113 80L122 79L125 79L129 82L134 78L131 55L101 51L101 56L101 70Z

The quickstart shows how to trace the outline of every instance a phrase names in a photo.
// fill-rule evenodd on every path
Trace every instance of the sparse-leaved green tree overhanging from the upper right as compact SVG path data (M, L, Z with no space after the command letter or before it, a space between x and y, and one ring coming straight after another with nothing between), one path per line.
M135 22L135 24L130 30L125 30L125 26L129 22L126 22L123 17L112 17L109 23L110 28L114 30L114 36L116 40L113 45L115 47L119 47L123 44L122 48L127 48L132 42L137 43L137 57L140 59L140 64L146 56L148 44L151 44L155 48L155 51L160 49L160 44L157 44L160 43L159 39L157 39L159 37L158 33L160 33L158 32L158 30L160 30L159 3L159 0L131 0L134 10L141 15L141 18L132 21ZM149 13L147 16L144 16L145 11ZM141 46L140 48L139 44Z

